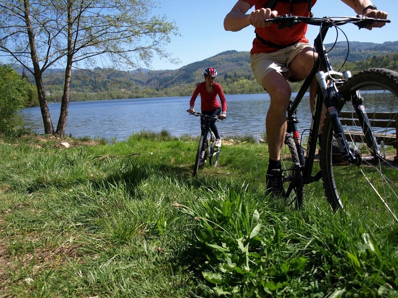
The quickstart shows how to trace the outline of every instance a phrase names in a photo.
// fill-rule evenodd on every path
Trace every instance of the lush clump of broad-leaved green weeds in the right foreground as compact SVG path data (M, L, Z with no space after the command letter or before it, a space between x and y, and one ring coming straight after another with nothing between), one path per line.
M234 297L391 297L398 229L377 231L345 213L258 201L247 189L174 206L197 223L191 243L211 294ZM388 252L387 255L381 251Z

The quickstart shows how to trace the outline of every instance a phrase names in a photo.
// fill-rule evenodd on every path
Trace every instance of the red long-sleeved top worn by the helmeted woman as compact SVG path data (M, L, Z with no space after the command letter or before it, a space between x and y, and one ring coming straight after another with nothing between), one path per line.
M222 110L226 111L226 100L224 96L224 92L222 92L222 88L220 84L213 83L213 90L211 92L208 92L206 90L206 82L199 83L196 86L195 91L193 92L193 95L191 97L191 100L189 101L189 106L193 106L195 103L195 99L200 93L200 98L201 98L201 110L202 111L212 111L215 110L220 106L219 101L217 101L217 94L220 97L221 100L221 105L222 105Z

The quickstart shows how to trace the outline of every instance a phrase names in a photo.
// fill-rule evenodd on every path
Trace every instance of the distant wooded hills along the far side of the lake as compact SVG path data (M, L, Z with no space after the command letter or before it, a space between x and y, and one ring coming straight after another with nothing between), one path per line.
M343 62L347 55L347 42L326 44L326 49L333 63ZM352 41L349 43L348 62L361 61L377 55L398 52L398 41L384 43L362 43ZM171 87L189 86L203 80L203 70L214 67L220 77L246 77L251 79L250 52L228 50L201 61L193 62L176 70L147 70L139 72L120 71L109 68L96 68L90 72L73 70L71 91L74 92L103 92L111 90L156 89L162 90ZM17 68L22 72L22 68ZM28 73L30 76L30 73ZM50 92L63 88L64 70L52 69L43 75L44 85ZM32 77L33 79L33 77Z

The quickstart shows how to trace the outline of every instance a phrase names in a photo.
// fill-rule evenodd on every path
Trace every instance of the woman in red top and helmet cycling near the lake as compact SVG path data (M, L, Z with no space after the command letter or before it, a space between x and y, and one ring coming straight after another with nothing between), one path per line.
M193 114L195 112L193 105L195 104L195 99L200 94L201 97L201 110L202 114L207 116L219 116L219 118L225 119L226 118L226 100L224 97L224 93L222 92L222 88L220 84L214 82L215 77L217 77L217 71L214 68L206 68L203 72L205 76L205 81L199 83L196 86L195 91L189 101L189 110L188 112ZM222 114L221 106L217 100L217 94L221 100L222 106ZM203 120L201 120L202 122ZM217 126L215 124L215 119L211 119L210 129L214 133L216 137L216 147L221 147L221 139L219 135L219 131L217 130ZM203 126L203 123L201 123ZM202 132L203 133L203 132Z

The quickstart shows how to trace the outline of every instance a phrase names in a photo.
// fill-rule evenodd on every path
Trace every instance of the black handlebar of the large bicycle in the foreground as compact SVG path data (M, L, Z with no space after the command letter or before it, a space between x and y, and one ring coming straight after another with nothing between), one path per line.
M285 27L293 27L298 23L306 23L308 25L316 25L322 26L324 23L328 23L330 25L344 25L347 23L353 23L357 25L359 29L365 28L366 26L370 25L374 22L380 23L390 23L391 21L388 19L375 19L373 17L364 17L362 15L357 15L356 17L302 17L297 15L277 15L273 19L266 19L265 23L275 23L278 25L279 28Z

